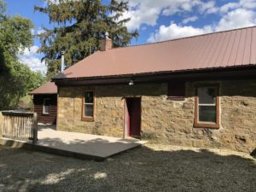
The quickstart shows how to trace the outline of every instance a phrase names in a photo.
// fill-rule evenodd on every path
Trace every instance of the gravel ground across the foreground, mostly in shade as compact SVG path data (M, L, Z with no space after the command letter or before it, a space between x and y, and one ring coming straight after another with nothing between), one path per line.
M146 144L103 162L0 146L0 191L256 191L256 160Z

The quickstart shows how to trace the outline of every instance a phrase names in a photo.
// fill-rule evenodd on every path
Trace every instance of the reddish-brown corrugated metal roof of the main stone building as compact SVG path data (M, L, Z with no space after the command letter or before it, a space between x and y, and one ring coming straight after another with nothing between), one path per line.
M256 63L256 27L97 51L58 78L176 72Z

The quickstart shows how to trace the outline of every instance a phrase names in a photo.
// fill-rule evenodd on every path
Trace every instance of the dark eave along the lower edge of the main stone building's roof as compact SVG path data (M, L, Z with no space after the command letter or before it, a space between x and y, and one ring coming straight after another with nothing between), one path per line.
M243 73L241 75L241 73ZM204 78L236 78L236 77L256 77L256 66L247 65L242 67L218 67L218 68L205 68L200 70L183 70L172 72L155 72L155 73L135 73L124 75L112 76L98 76L89 78L69 78L69 79L52 79L55 84L76 84L68 82L80 82L79 84L113 84L125 83L131 79L147 82L164 79L204 79Z

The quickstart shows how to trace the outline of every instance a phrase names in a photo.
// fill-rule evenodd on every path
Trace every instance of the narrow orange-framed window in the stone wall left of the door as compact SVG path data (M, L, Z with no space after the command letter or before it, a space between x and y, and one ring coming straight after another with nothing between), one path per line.
M85 91L83 98L82 120L94 120L95 97L94 91Z

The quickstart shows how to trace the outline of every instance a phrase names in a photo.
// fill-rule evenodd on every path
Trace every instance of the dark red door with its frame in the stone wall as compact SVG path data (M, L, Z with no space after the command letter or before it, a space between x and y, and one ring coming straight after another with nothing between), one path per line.
M125 131L126 136L141 136L141 98L126 98Z

